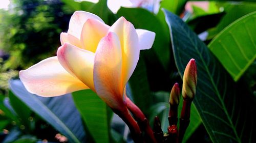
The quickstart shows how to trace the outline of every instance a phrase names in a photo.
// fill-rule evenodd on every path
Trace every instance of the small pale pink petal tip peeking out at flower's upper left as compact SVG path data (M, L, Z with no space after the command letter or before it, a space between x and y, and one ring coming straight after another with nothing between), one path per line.
M82 47L81 45L81 42L79 39L77 39L75 36L73 35L70 35L68 33L61 33L60 34L60 42L61 42L61 45L64 45L65 43L70 43L74 46L77 46L79 48Z

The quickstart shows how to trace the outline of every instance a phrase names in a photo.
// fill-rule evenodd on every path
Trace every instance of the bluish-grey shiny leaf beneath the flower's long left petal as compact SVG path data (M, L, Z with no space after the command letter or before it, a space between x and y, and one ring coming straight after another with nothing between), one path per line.
M39 97L29 93L20 80L11 80L10 90L71 142L84 140L85 132L80 115L70 94L51 98Z

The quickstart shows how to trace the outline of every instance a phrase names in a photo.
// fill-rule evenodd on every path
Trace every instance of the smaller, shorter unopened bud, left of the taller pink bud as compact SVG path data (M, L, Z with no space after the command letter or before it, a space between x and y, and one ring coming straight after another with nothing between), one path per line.
M170 105L179 105L180 103L180 87L177 82L174 84L173 89L170 92L169 103Z

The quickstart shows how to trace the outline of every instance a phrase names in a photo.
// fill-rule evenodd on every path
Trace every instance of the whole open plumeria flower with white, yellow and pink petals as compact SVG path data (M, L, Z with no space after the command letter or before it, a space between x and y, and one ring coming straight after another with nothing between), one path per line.
M124 17L109 26L97 15L76 11L68 32L60 34L57 56L20 71L20 80L30 93L44 97L91 89L111 108L121 109L140 50L151 48L154 39L155 33L135 29Z

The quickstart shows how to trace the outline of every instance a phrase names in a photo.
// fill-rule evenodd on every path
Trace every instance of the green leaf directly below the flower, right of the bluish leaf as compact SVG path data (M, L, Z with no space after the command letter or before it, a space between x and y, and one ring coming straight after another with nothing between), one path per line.
M77 109L96 143L110 142L110 122L112 114L108 106L92 90L72 93Z

